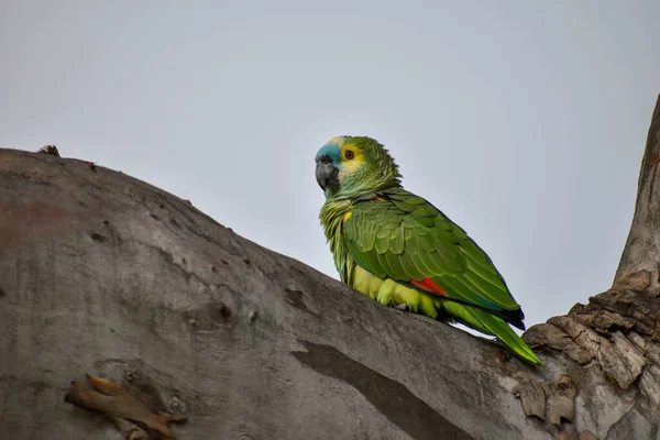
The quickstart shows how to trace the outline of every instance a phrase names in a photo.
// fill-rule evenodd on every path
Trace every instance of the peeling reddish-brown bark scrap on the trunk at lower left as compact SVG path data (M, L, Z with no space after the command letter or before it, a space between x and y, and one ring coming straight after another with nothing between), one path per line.
M148 439L150 433L162 440L175 439L176 436L167 424L186 420L184 416L152 413L142 400L129 394L121 385L91 374L87 374L87 378L91 388L73 381L64 402L105 414L128 440Z

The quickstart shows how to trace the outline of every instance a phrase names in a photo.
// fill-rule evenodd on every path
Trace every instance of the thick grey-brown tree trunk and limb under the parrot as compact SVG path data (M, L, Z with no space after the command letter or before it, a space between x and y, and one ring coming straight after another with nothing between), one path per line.
M0 150L0 438L120 439L65 403L86 373L179 439L658 438L659 121L613 289L525 336L543 369L121 173Z

